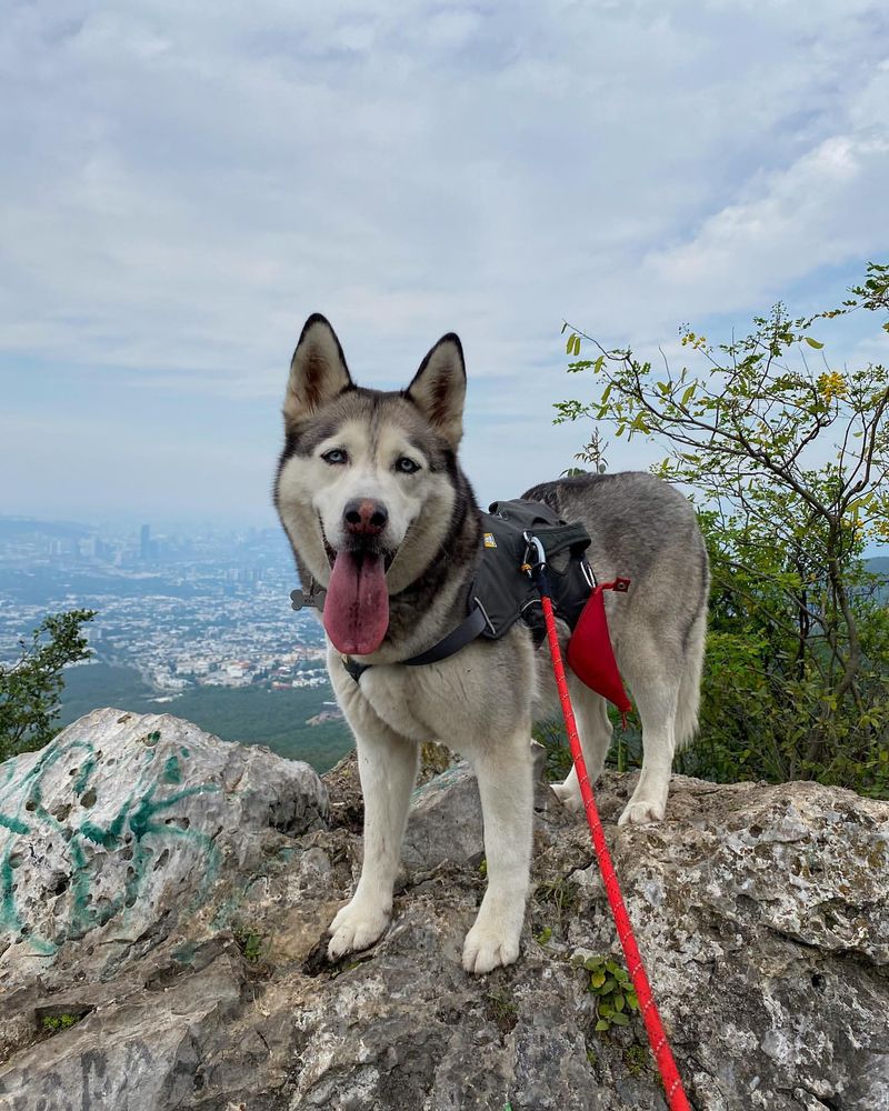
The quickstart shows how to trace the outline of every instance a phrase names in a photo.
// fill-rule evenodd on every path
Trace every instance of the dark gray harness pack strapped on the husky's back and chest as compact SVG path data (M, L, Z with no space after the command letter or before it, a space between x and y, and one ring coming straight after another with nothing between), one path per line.
M467 593L467 617L437 644L399 663L416 668L447 660L478 637L499 640L519 619L530 627L535 644L542 642L546 628L540 594L529 573L526 533L540 540L546 551L556 615L575 628L596 585L586 560L589 533L580 523L562 521L543 502L496 501L481 514L482 557ZM291 592L291 605L322 610L324 593L312 580L308 595L301 590ZM342 663L356 682L373 667L350 655L343 655Z

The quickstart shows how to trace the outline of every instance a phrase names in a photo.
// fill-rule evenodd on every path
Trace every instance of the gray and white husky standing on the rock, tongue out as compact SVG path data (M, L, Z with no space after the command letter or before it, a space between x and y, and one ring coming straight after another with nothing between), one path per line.
M453 334L439 340L400 392L354 386L321 316L307 321L290 364L274 503L303 590L326 591L328 669L354 733L364 795L363 868L330 925L331 960L372 944L389 923L419 747L428 740L467 757L481 795L488 889L466 937L463 967L490 972L519 954L531 854L531 723L548 703L558 705L549 652L536 651L518 621L501 639L473 640L439 662L402 663L466 618L481 559L480 510L457 461L465 396ZM608 599L645 745L620 821L658 821L673 752L697 723L709 569L695 513L667 483L637 472L547 482L525 497L586 524L597 578L632 580L628 594ZM567 640L568 629L561 633ZM347 670L354 661L371 667L354 678ZM611 737L606 702L578 680L571 697L595 781ZM556 793L581 807L575 771Z

